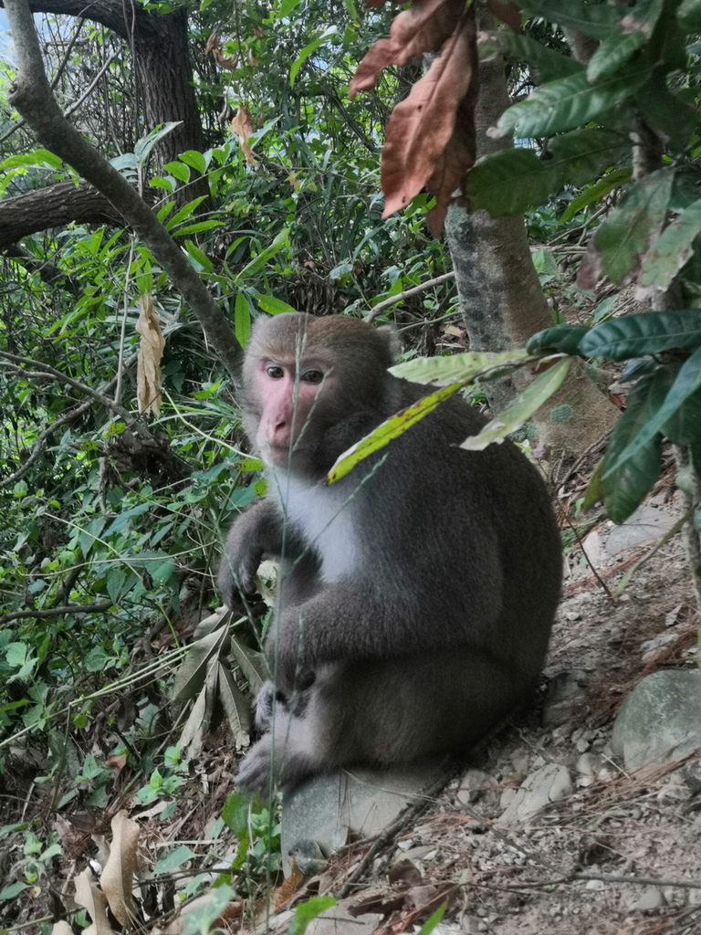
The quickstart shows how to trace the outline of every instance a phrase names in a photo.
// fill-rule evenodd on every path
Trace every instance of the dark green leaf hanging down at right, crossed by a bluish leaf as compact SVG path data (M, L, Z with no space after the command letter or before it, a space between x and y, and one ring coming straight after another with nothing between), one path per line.
M636 443L640 430L660 409L674 382L674 374L658 367L649 377L637 381L628 395L628 405L608 441L604 456L602 486L608 517L622 523L637 509L643 496L657 480L662 467L662 436L655 433L638 445L635 454L615 465L622 452Z

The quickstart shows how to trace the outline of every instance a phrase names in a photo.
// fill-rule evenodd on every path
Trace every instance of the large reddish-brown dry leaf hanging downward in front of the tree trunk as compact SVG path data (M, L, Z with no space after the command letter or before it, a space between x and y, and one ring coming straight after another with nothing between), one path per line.
M475 35L473 17L465 16L428 73L394 108L382 150L382 217L427 188L436 195L428 221L435 234L442 228L452 194L475 159Z

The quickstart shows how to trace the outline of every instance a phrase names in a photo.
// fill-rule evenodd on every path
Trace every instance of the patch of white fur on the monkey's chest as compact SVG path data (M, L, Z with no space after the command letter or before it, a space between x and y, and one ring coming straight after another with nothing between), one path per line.
M360 543L353 528L348 493L322 483L306 483L279 474L271 484L287 521L314 546L326 582L348 578L358 568Z

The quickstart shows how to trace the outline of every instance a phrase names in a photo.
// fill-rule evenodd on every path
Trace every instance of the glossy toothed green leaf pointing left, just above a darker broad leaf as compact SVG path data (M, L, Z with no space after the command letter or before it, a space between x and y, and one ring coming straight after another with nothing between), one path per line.
M626 97L650 77L650 65L637 65L625 75L612 75L589 84L584 72L550 81L538 88L528 100L505 110L496 129L500 136L552 137L556 133L581 127Z

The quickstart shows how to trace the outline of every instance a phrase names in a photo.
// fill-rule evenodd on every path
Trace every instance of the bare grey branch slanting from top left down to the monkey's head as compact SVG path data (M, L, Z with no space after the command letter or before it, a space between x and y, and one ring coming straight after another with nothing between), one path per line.
M50 91L27 0L4 2L18 65L17 79L7 100L20 111L41 144L72 165L83 179L104 194L124 221L144 240L189 303L224 367L236 379L242 348L222 309L209 295L193 266L149 206L117 169L109 165L88 140L65 120ZM101 0L101 5L104 3L105 0ZM80 9L85 15L89 7L81 5Z

